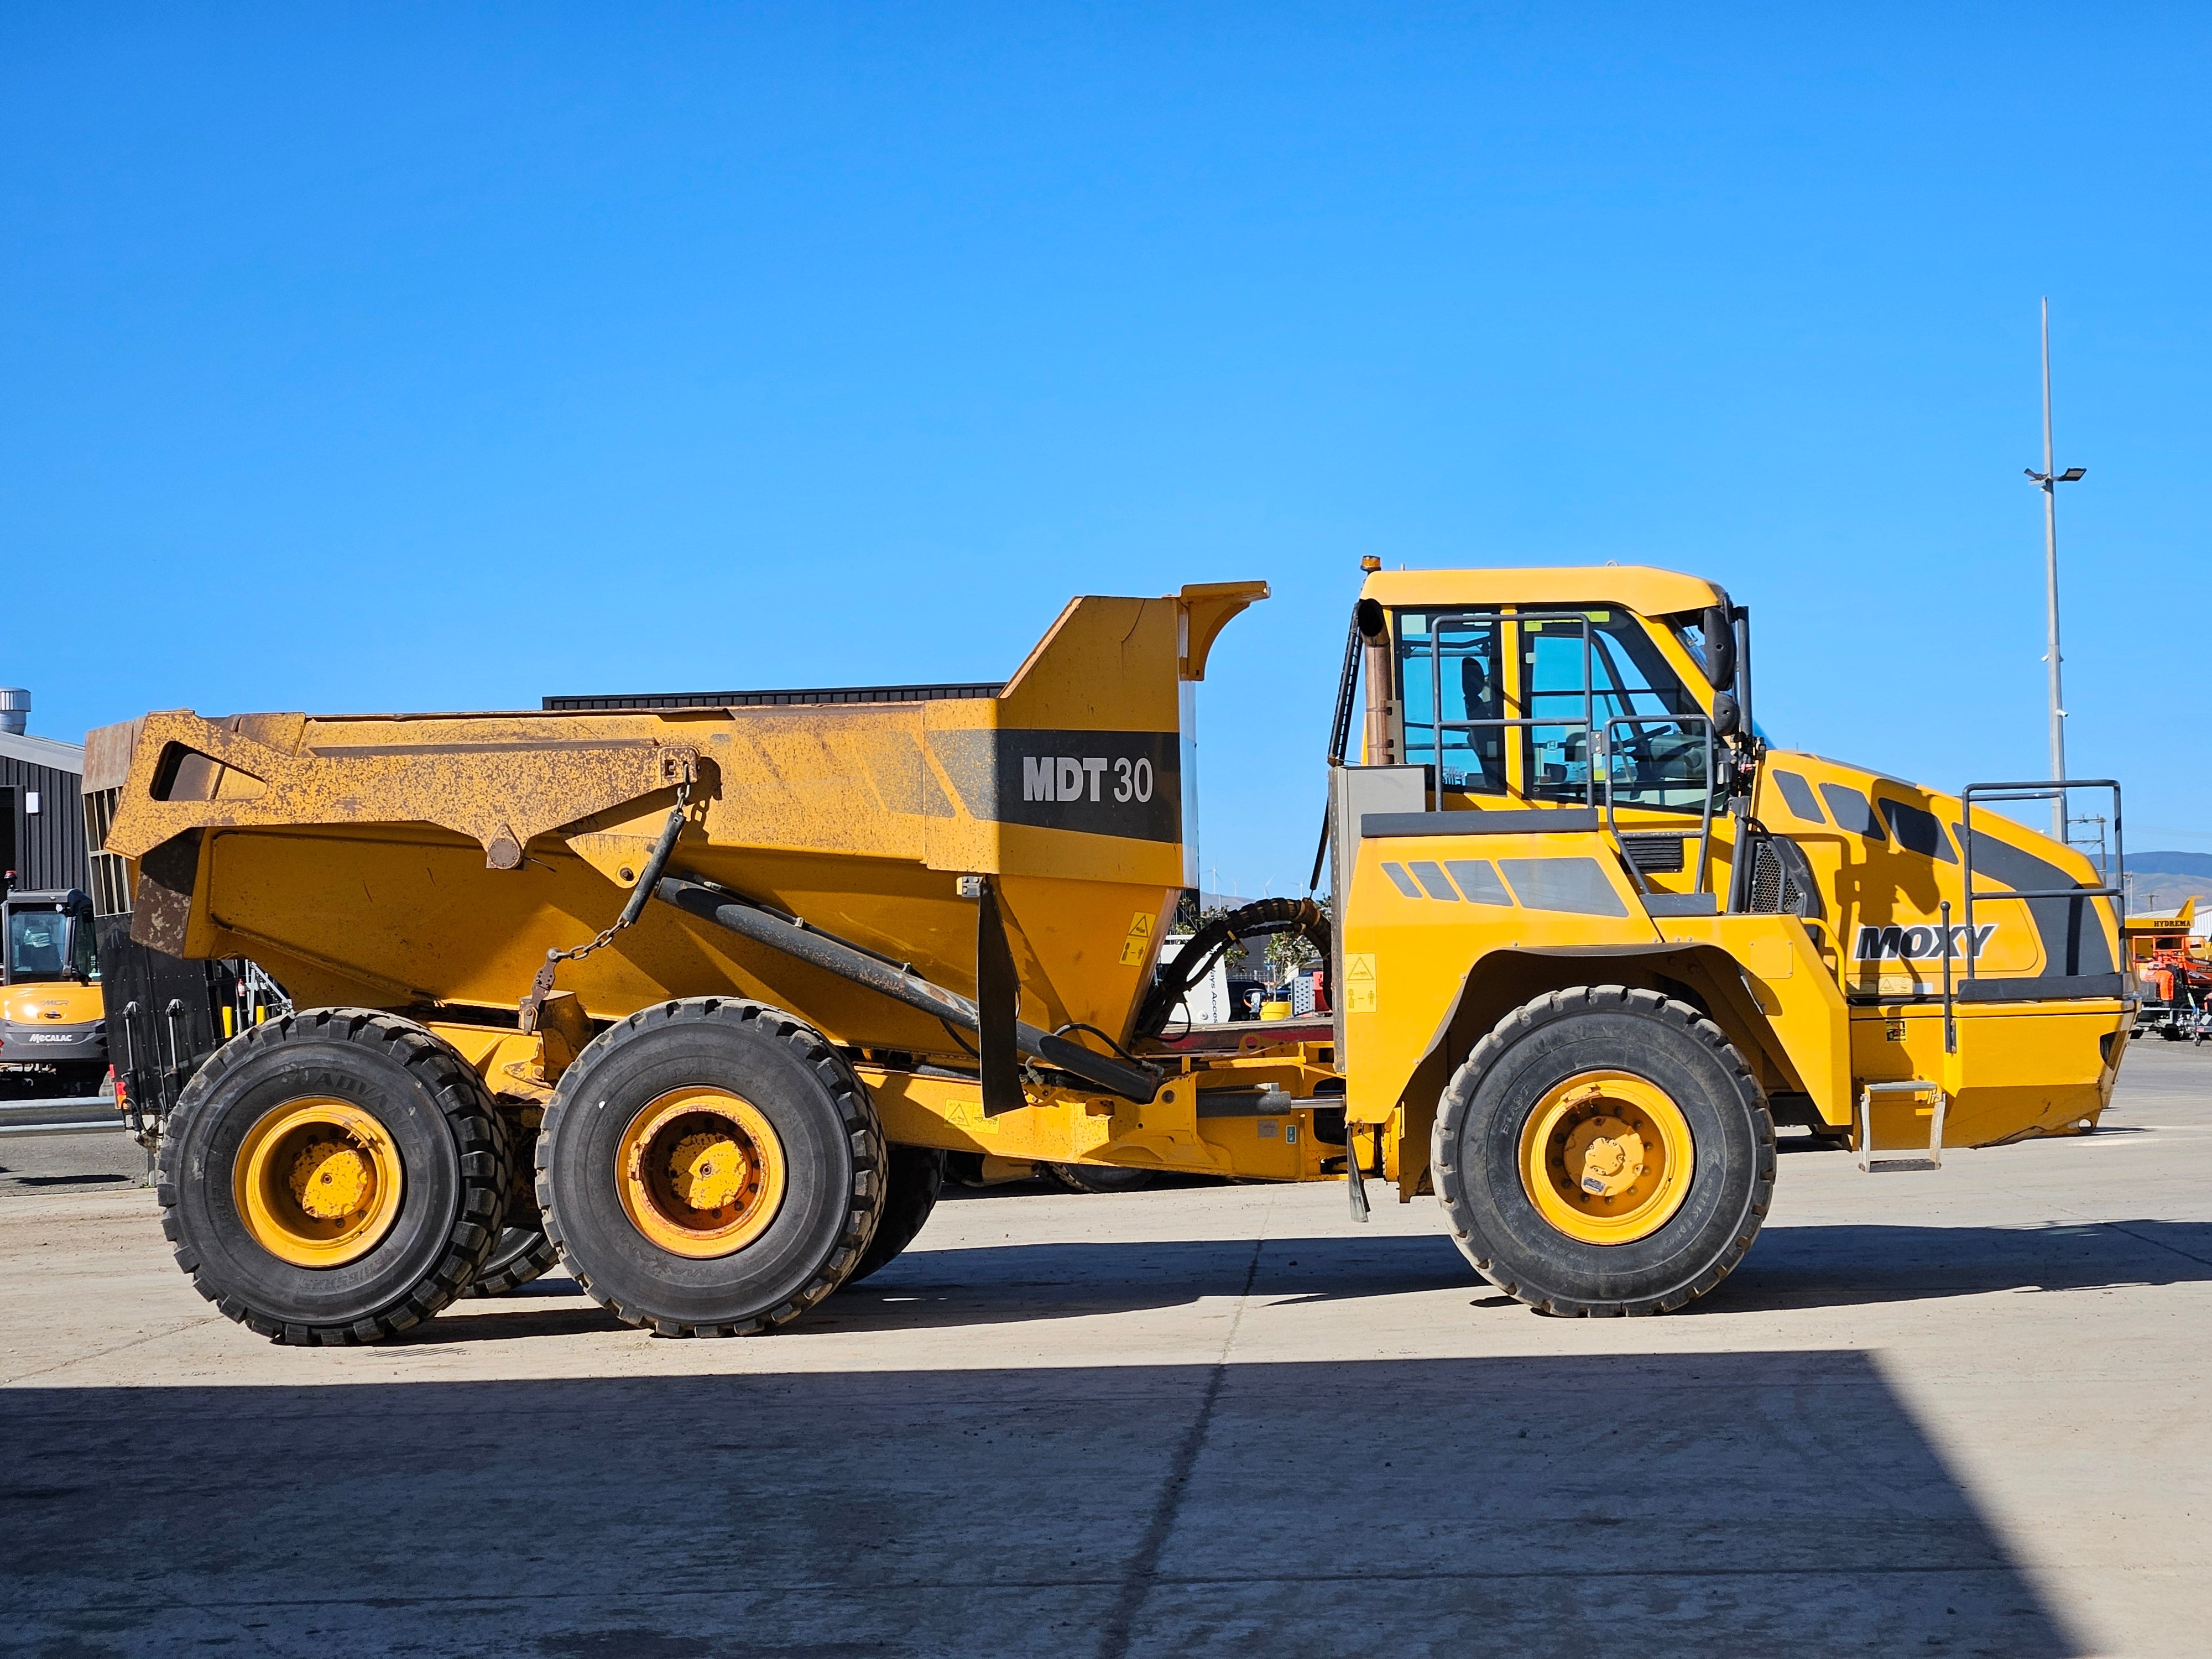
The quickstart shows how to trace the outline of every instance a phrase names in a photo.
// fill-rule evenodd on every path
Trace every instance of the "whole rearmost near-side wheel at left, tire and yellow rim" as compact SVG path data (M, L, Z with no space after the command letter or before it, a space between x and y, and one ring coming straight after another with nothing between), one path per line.
M250 1026L192 1075L157 1186L177 1265L226 1316L283 1343L374 1343L484 1265L507 1128L422 1026L314 1009Z

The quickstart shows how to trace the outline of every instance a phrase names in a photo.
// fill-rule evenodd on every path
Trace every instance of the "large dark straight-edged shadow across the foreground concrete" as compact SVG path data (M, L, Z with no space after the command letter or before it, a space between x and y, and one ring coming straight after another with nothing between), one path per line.
M2086 1650L1856 1352L27 1387L0 1436L13 1652Z

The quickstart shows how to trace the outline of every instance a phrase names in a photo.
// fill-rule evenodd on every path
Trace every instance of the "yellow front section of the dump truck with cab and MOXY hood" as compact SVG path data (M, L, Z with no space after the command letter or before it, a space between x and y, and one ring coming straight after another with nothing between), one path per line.
M1442 1126L1480 1046L1595 987L1705 1022L1759 1117L1863 1157L1918 1139L1940 1159L2104 1110L2130 1013L2119 894L1993 810L2055 785L1947 794L1772 745L1750 613L1692 575L1369 571L1354 626L1332 745L1336 1064L1354 1144L1400 1199L1451 1172ZM1668 1113L1646 1117L1657 1133ZM1573 1194L1606 1181L1575 1161L1590 1137L1568 1146L1573 1121L1520 1152L1559 1177L1566 1239L1617 1241L1601 1212L1635 1194L1577 1219Z

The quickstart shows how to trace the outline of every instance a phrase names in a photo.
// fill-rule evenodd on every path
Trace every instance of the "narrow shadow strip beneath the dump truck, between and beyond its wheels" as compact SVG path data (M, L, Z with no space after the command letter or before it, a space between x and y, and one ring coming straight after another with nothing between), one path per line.
M2037 1228L1794 1225L1767 1228L1745 1263L1690 1314L1863 1307L2002 1292L2097 1292L2212 1281L2212 1223L2097 1221ZM794 1327L825 1332L947 1329L1183 1307L1208 1296L1334 1303L1464 1292L1495 1296L1442 1237L1181 1239L1022 1243L929 1250L929 1234L863 1285ZM467 1343L619 1329L619 1321L551 1276L511 1298L462 1301L411 1340Z

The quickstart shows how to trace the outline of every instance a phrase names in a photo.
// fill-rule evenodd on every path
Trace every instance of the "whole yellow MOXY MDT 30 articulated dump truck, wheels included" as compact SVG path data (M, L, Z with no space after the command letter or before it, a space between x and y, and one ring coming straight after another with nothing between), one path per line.
M1334 916L1270 900L1161 960L1192 690L1261 597L1075 599L1002 686L104 737L135 938L301 1009L155 1126L179 1265L290 1343L553 1259L630 1323L752 1334L980 1152L1345 1181L1354 1217L1383 1179L1509 1294L1646 1314L1750 1250L1776 1119L1869 1170L2095 1124L2119 898L1993 812L2057 785L1767 748L1747 613L1663 571L1369 562ZM1325 953L1327 1022L1175 1018L1281 931Z

